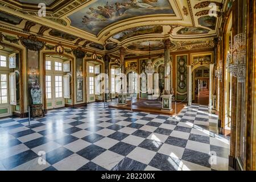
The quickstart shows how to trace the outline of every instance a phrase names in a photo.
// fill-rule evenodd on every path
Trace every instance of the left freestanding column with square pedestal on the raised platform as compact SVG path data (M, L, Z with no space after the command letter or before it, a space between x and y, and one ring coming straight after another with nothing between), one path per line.
M125 92L125 81L126 79L123 78L123 75L125 74L125 48L121 47L119 49L120 51L120 68L121 68L121 89L118 93L118 104L120 105L126 105L126 92Z

